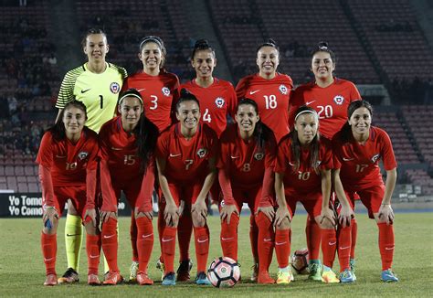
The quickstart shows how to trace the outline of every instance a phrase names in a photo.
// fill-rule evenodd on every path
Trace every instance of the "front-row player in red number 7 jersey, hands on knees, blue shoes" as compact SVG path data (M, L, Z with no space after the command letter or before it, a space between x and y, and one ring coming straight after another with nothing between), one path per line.
M191 209L195 233L197 276L195 283L209 284L206 261L209 251L209 229L206 224L206 196L216 177L217 137L206 124L199 123L200 104L192 93L183 89L176 103L179 121L158 139L156 162L165 201L163 233L163 285L174 285L174 250L179 222L179 203ZM163 210L161 210L163 211Z

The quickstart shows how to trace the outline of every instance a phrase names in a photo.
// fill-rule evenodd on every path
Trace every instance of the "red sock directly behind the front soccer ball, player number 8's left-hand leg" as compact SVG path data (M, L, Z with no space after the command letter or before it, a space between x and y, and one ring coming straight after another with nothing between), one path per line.
M227 224L227 220L221 221L223 255L235 261L238 261L238 225L239 216L235 213L231 215L230 224Z

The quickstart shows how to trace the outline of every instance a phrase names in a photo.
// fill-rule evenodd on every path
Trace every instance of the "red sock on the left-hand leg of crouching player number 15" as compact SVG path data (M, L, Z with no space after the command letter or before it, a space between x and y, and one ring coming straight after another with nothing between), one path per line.
M117 250L118 250L118 239L117 239L117 220L109 218L107 222L102 223L102 250L104 251L105 259L109 264L111 271L119 271L117 267Z

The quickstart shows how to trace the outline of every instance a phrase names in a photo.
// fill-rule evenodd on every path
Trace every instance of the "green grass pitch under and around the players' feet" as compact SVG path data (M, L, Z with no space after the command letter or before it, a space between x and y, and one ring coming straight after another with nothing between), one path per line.
M296 276L296 281L288 286L258 285L247 282L252 265L248 239L248 216L244 216L239 226L239 262L245 282L234 288L218 290L212 287L198 287L192 282L178 283L174 287L163 287L159 282L161 273L154 268L159 256L159 243L155 245L149 273L155 285L140 287L138 285L122 284L113 287L90 287L87 285L86 250L81 250L79 284L44 287L45 267L40 251L41 219L0 219L0 296L47 296L63 295L88 296L132 296L134 294L180 296L271 296L284 293L290 296L307 295L351 295L351 296L428 296L432 293L433 276L433 213L408 213L396 216L396 253L394 270L400 282L384 283L380 281L381 262L377 247L377 228L375 222L358 215L358 245L356 249L357 282L354 284L322 284L309 282L306 276ZM62 274L66 269L66 254L64 247L64 219L60 220L58 235L57 271ZM120 250L119 265L121 273L128 277L131 264L131 244L129 241L130 218L120 220ZM155 224L156 220L153 220ZM211 230L211 249L209 262L221 256L218 240L219 218L209 218ZM306 246L304 236L305 216L296 216L293 220L292 251ZM191 255L195 261L194 240ZM176 258L177 260L177 258ZM335 268L338 269L338 266ZM195 266L192 276L195 276ZM103 269L100 266L100 273ZM271 275L277 273L277 263L270 267ZM100 274L101 275L101 274ZM430 293L430 294L428 294Z

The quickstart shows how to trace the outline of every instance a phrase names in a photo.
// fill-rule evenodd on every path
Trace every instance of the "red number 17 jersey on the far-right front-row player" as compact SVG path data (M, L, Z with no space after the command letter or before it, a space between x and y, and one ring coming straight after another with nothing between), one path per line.
M342 132L333 137L334 166L340 169L344 189L357 191L384 184L380 174L379 160L386 171L396 168L391 140L384 130L372 126L365 144L359 144L351 133L348 142L343 142Z

